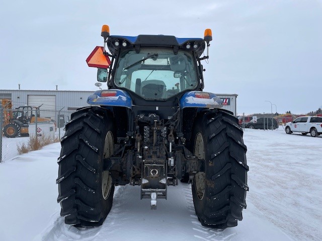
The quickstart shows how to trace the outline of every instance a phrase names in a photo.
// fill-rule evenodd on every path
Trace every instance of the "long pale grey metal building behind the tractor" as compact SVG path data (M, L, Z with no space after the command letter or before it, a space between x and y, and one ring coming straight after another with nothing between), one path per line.
M42 117L50 117L56 122L58 114L68 121L70 114L77 108L88 106L87 97L94 91L66 91L66 90L0 90L0 99L11 99L13 108L19 106L40 107ZM223 100L222 108L230 110L236 115L237 94L216 94Z

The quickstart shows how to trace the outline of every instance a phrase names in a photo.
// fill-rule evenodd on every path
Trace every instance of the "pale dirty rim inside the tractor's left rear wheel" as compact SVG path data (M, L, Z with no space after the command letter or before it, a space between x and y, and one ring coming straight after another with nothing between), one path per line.
M105 137L104 154L103 158L109 158L113 154L113 135L108 132ZM109 171L102 171L102 195L107 199L110 195L112 188L112 177Z

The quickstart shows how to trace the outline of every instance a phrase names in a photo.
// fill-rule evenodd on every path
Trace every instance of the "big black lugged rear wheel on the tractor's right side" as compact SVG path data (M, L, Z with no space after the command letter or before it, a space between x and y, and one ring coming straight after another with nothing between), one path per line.
M194 155L205 159L205 172L192 182L198 219L212 228L236 226L249 190L247 148L238 119L224 110L207 111L195 122L192 137Z

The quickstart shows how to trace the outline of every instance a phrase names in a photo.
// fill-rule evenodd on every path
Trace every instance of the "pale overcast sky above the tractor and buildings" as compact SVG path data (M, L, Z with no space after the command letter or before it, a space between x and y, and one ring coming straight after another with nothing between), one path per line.
M85 60L103 24L127 36L210 28L205 91L238 94L238 113L322 107L322 0L2 1L0 23L0 89L97 90Z

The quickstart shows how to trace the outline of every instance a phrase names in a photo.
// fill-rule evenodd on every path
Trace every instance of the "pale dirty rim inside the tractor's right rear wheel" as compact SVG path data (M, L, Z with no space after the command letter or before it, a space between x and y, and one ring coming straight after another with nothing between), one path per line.
M204 143L203 143L203 138L201 133L198 133L196 136L194 153L195 153L195 156L198 157L199 159L205 159L205 148L204 148ZM205 176L206 175L204 172L198 172L194 180L197 196L200 200L203 198L205 193L205 182L206 182Z

